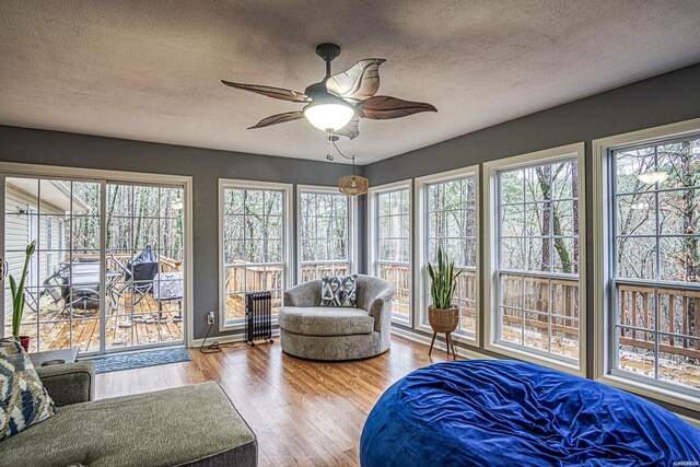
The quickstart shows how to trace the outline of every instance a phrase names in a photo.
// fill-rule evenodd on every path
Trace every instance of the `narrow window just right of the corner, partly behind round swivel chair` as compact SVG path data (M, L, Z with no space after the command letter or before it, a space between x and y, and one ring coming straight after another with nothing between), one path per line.
M392 314L411 319L411 185L410 182L370 190L371 272L387 280L396 292Z

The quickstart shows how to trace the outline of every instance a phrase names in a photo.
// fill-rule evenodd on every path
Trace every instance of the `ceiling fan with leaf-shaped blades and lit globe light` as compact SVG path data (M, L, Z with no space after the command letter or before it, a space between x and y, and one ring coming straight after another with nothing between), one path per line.
M272 115L248 129L269 127L306 117L319 130L354 139L360 135L358 128L360 118L387 120L420 112L438 112L434 106L422 102L374 95L380 89L380 65L386 61L382 58L365 58L343 72L330 74L330 62L340 55L340 47L336 44L320 44L316 47L316 55L326 62L326 77L306 87L303 93L221 80L225 85L237 90L306 104L302 110Z

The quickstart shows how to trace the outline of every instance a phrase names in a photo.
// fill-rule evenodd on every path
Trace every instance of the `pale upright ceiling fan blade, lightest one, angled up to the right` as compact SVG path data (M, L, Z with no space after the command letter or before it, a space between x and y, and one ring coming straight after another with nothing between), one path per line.
M350 69L334 74L326 81L326 89L339 97L364 101L380 90L380 65L383 58L365 58Z

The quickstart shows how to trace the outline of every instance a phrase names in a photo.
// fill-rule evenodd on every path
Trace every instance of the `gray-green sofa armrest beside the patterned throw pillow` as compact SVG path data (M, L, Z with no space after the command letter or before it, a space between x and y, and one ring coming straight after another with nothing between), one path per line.
M36 373L56 406L89 402L95 397L95 365L93 362L37 366Z

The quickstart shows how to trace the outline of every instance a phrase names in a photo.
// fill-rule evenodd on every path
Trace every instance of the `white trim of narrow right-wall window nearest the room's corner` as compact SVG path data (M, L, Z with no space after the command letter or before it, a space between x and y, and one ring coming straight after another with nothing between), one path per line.
M410 202L409 211L408 211L408 225L411 226L410 240L409 240L409 248L410 248L410 258L408 261L408 269L411 272L411 281L413 278L413 183L411 179L394 182L390 184L378 185L375 187L371 187L368 195L368 273L371 276L375 276L377 273L376 268L376 240L378 233L378 225L376 222L377 217L377 208L376 208L376 199L378 195L408 189L408 199ZM415 288L411 288L411 291L415 291ZM412 327L416 319L413 318L413 301L416 300L415 293L411 293L409 296L408 304L408 319L404 319L392 314L392 322L397 323L404 326ZM455 339L456 340L456 339Z

